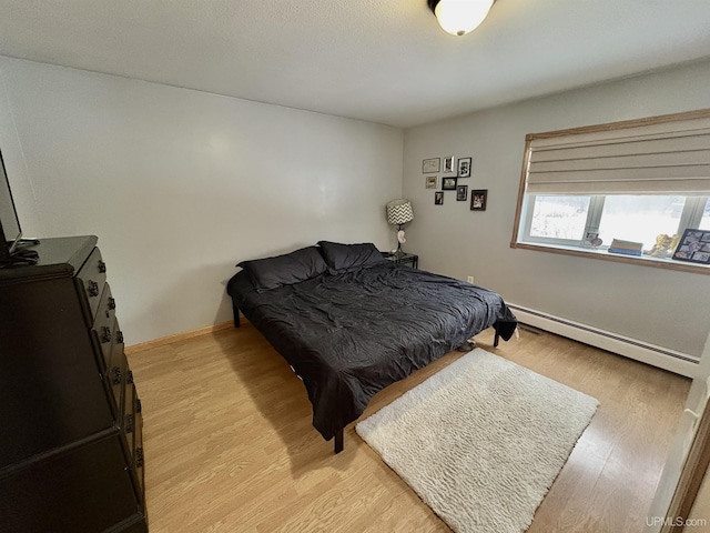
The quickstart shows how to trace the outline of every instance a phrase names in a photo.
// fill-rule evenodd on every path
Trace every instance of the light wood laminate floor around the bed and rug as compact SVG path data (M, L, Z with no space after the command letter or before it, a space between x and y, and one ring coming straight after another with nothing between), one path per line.
M523 331L498 349L490 331L477 340L601 403L528 531L640 531L690 381L548 333ZM365 415L460 355L382 391ZM333 454L311 425L305 388L253 326L129 360L151 533L449 531L353 424Z

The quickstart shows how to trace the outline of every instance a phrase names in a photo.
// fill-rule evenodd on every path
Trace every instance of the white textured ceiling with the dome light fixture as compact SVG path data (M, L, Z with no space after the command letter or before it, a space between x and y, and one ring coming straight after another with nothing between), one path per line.
M0 0L0 54L398 127L710 57L710 0Z

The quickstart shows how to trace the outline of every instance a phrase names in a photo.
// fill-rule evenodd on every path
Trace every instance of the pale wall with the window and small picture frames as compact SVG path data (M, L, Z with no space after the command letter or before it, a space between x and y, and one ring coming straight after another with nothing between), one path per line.
M404 194L416 220L406 249L426 270L513 303L699 356L710 330L710 275L510 249L526 133L710 108L710 62L490 109L405 131ZM473 155L485 212L445 192L434 205L422 160ZM440 174L439 174L440 175Z

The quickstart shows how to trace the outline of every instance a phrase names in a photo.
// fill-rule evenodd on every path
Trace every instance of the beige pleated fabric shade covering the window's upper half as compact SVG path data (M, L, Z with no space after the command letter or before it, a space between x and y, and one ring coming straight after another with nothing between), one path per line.
M677 117L528 135L527 192L709 193L710 110Z

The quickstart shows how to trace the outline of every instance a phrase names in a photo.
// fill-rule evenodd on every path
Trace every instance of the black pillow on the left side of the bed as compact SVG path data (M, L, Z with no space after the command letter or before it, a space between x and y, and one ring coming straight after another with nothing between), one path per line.
M257 292L292 285L315 278L328 270L321 252L315 247L302 248L275 258L242 261L237 266L248 273Z

